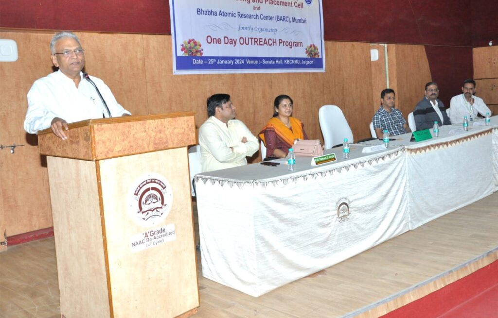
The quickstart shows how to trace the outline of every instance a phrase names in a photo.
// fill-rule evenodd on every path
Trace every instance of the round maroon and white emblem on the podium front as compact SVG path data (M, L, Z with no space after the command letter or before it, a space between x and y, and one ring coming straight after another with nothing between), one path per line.
M129 188L128 213L143 227L151 227L166 219L172 203L171 185L158 173L143 174Z

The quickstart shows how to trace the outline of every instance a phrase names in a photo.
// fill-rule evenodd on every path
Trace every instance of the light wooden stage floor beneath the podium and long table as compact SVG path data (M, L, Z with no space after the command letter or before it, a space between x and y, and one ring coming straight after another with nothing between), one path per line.
M496 260L497 220L495 192L259 298L203 278L197 252L201 305L193 317L378 317ZM0 318L28 317L60 318L53 238L0 253Z

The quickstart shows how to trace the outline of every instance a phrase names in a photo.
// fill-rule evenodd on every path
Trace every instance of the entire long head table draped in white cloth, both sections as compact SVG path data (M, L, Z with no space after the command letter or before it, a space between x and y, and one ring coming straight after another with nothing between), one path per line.
M203 276L257 297L491 194L497 117L493 126L444 126L416 144L401 135L373 154L352 145L351 159L297 158L293 172L256 163L197 174Z

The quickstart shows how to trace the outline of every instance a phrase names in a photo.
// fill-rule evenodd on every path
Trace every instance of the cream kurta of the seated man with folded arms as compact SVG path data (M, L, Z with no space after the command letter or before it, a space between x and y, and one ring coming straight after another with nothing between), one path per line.
M247 143L242 142L243 137ZM227 127L215 116L209 117L199 128L199 145L202 172L246 165L246 157L259 149L256 137L242 121L231 119Z

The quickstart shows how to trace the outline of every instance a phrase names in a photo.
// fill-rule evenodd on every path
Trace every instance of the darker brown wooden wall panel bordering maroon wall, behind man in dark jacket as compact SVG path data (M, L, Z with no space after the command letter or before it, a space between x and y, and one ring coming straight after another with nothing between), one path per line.
M396 105L406 119L424 97L425 83L431 80L429 62L421 45L395 45L395 50L388 52L389 59L396 61Z

